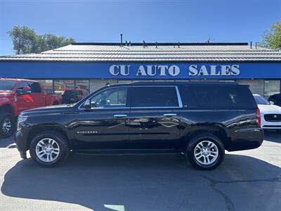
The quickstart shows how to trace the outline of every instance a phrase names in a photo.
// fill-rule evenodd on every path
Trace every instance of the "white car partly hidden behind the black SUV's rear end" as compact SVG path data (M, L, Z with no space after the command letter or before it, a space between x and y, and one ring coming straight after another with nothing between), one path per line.
M261 128L281 129L281 107L273 105L273 102L266 101L259 94L254 94L254 98L261 111Z

